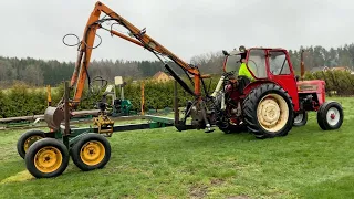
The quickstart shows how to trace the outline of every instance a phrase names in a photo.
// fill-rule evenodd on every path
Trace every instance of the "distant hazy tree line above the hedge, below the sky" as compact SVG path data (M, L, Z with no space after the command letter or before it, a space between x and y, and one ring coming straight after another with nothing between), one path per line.
M291 62L296 72L300 71L301 51L305 51L304 62L306 71L319 66L348 66L354 65L354 44L325 49L321 45L301 46L299 50L289 50ZM201 73L222 73L223 55L221 51L196 55L190 63L198 65ZM167 62L178 74L183 74L173 62ZM15 82L23 82L32 86L55 86L62 81L70 80L74 70L74 62L59 62L56 60L18 59L0 56L0 86L10 87ZM92 77L101 76L113 81L114 76L143 80L164 71L159 61L125 61L125 60L94 60L90 64L88 73Z

